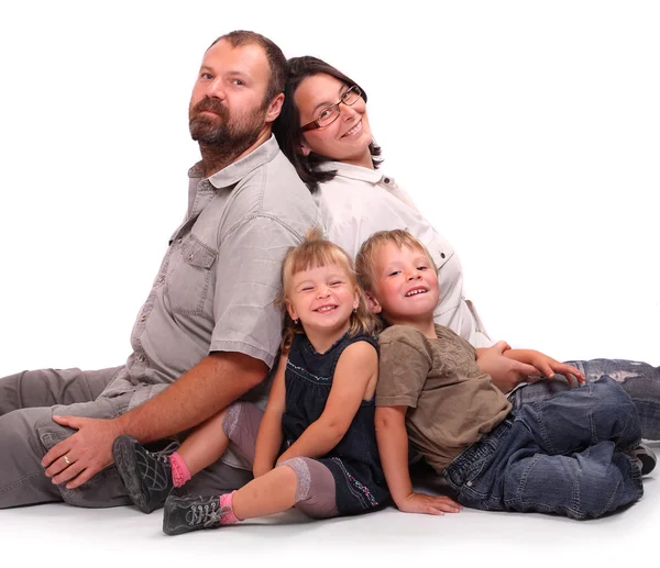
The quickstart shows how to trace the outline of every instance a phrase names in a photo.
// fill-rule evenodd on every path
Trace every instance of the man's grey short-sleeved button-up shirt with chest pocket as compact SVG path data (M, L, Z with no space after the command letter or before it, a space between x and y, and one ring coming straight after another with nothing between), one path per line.
M208 179L188 172L175 231L131 335L133 353L105 394L136 390L131 408L211 352L275 360L282 259L317 222L317 207L274 136Z

